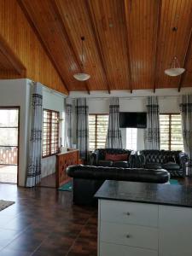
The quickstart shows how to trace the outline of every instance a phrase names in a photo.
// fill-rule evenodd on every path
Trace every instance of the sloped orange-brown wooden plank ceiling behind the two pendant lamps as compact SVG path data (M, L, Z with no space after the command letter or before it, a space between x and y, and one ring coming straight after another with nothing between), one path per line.
M68 90L192 86L191 0L18 0ZM87 82L73 79L84 71ZM177 56L187 71L164 73Z

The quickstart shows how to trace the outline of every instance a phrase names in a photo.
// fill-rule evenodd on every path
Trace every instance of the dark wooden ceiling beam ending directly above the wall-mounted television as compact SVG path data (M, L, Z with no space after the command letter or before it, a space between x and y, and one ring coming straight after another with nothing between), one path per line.
M126 55L127 55L127 66L128 66L128 77L129 77L129 85L132 93L132 79L131 79L131 61L130 61L130 47L129 47L129 30L128 30L128 20L129 20L129 3L124 0L124 16L125 16L125 38L126 38Z

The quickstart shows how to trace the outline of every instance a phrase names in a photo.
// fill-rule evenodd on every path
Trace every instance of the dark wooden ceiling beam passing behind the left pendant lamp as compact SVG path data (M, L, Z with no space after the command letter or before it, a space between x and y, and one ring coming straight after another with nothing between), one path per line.
M73 53L73 57L74 57L74 60L80 70L81 73L84 72L83 68L82 68L82 65L81 65L81 61L79 60L79 56L78 56L78 53L77 51L75 50L75 45L73 44L73 40L70 38L70 32L67 31L67 26L65 26L65 22L61 16L61 12L60 12L60 9L58 7L58 3L55 2L55 0L50 0L51 4L52 4L52 7L55 11L55 15L57 16L58 20L59 20L59 23L61 25L61 29L62 29L62 32L63 32L63 35L64 37L66 38L67 40L67 44L68 44L68 47L69 49L71 49L72 53ZM84 35L82 35L84 36ZM80 40L80 38L79 38ZM85 88L88 92L88 94L90 94L90 88L89 88L89 85L86 81L84 81L84 85L85 85Z

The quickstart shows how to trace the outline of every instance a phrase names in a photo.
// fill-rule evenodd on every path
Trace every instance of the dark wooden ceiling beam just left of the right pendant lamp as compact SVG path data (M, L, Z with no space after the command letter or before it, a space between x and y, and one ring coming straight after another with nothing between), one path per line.
M158 55L158 43L159 43L159 38L160 38L160 18L161 18L161 7L162 7L162 0L159 0L158 3L158 15L157 15L157 26L156 26L156 36L155 36L155 54L154 54L154 93L157 88L157 83L158 83L158 78L157 76L157 55Z

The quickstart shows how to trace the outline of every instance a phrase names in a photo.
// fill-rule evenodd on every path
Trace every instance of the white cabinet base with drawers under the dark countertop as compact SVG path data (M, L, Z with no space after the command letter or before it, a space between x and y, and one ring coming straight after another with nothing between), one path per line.
M99 200L98 256L191 256L192 209Z

